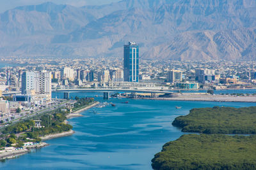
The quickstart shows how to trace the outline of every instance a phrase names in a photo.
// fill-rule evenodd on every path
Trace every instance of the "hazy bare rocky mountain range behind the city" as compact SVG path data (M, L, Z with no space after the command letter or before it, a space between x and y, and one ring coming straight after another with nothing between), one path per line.
M256 60L256 1L124 0L76 8L44 3L0 14L0 55Z

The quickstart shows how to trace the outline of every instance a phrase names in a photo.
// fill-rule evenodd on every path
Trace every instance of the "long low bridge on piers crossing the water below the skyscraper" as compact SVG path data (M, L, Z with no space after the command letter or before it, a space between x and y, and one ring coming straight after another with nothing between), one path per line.
M159 90L140 90L140 89L52 89L52 92L64 92L64 98L69 99L70 92L103 92L103 98L109 98L109 92L131 92L131 96L136 98L137 93L150 93L151 97L157 94L173 94L173 92Z

